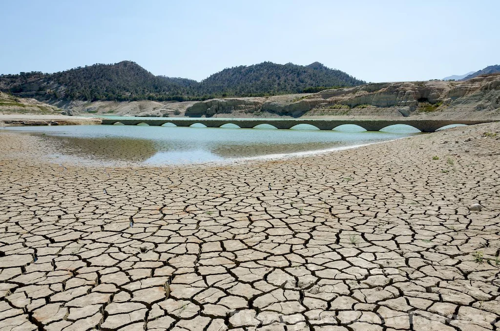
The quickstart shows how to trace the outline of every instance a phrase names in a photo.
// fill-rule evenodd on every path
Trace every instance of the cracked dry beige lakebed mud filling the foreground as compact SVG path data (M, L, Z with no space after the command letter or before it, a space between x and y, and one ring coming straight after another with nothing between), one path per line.
M495 330L498 131L114 169L1 133L0 329Z

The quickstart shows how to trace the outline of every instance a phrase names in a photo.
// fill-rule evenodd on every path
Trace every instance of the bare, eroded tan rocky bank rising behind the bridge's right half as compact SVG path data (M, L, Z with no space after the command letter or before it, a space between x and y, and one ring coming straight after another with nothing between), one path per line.
M317 93L195 102L189 117L500 118L500 73L467 81L368 83Z

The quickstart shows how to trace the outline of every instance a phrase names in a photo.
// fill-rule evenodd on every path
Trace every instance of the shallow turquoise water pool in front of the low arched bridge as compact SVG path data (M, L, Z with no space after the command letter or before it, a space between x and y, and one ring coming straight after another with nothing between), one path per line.
M130 117L128 117L130 118ZM35 134L56 147L55 157L84 161L132 161L142 164L189 164L294 156L397 139L418 130L392 125L386 131L365 131L356 125L317 130L243 129L140 125L71 125L5 127ZM266 129L267 128L267 129ZM417 131L417 132L415 132Z

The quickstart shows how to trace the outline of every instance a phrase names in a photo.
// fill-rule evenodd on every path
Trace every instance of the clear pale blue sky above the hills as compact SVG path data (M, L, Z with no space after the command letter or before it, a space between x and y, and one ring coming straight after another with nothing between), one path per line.
M319 61L366 81L500 64L500 1L0 0L0 73L132 60L201 80L262 61Z

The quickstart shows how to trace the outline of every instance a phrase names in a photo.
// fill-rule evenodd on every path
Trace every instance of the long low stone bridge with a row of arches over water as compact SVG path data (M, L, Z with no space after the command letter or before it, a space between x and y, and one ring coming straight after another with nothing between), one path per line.
M393 124L411 125L422 132L434 132L438 128L451 124L479 124L492 122L494 120L459 120L459 119L253 119L253 118L165 118L165 119L102 119L102 124L122 123L125 125L148 124L160 126L166 123L172 123L176 126L191 126L201 123L207 127L220 127L224 124L236 124L241 128L252 128L259 124L270 124L276 128L292 128L297 124L310 124L320 130L332 130L343 124L355 124L368 131L378 131L386 126Z

